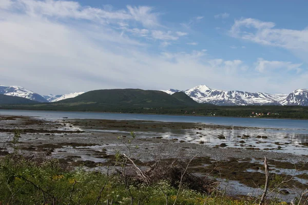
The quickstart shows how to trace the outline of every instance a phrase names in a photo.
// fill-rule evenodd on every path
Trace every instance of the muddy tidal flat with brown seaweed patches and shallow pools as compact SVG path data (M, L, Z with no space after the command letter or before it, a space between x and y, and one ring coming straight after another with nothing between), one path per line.
M133 131L132 158L143 169L155 160L191 161L189 171L221 181L230 195L258 195L265 183L263 161L272 176L291 178L277 193L290 201L308 188L308 136L288 129L218 126L141 120L57 119L0 116L0 155L12 151L14 130L25 155L59 158L62 163L95 170L128 154L124 142ZM119 136L120 139L119 139ZM121 140L122 139L122 140Z

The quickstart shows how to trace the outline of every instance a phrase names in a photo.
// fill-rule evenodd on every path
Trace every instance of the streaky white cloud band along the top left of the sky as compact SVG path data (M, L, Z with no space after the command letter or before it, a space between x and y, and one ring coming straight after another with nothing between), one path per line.
M4 1L3 5L9 2L8 0L1 1ZM119 20L134 20L144 27L159 26L159 14L153 13L153 8L146 6L127 6L127 9L112 10L112 7L104 9L83 7L78 2L54 0L18 0L14 6L30 16L85 19L101 24L119 23Z

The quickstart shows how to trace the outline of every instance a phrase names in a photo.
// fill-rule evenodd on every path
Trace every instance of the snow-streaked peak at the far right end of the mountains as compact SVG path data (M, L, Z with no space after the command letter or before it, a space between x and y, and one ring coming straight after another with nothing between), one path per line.
M293 91L281 101L281 104L288 106L308 106L308 89L298 89Z

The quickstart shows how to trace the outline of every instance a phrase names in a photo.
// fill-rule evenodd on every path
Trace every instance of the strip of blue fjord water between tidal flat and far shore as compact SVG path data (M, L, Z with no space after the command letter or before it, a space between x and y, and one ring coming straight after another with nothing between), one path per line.
M114 120L147 120L162 122L200 122L213 125L241 126L257 128L290 129L308 132L308 120L240 118L240 117L208 117L184 115L149 115L100 112L63 112L63 111L32 111L32 110L0 110L0 115L23 115L48 120L63 119L114 119Z

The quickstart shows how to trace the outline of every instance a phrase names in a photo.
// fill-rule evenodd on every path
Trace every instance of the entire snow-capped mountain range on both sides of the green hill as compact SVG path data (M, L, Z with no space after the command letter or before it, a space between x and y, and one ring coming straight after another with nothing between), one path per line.
M113 94L118 93L120 95L123 95L123 97L125 98L126 94L125 93L121 94L120 90L128 91L129 89L113 89L109 91L114 91L112 92ZM108 90L105 90L104 94L108 95L107 91ZM243 91L224 91L224 90L211 89L205 85L200 85L185 91L176 89L161 90L161 91L169 95L183 92L186 95L176 94L174 95L174 97L176 98L180 97L181 98L179 99L180 101L185 100L186 103L189 103L189 105L193 105L194 101L196 101L197 103L201 104L206 103L218 106L248 106L248 105L308 106L308 89L298 89L290 94L268 94L261 92L252 93ZM88 95L87 93L74 92L64 95L50 94L42 96L40 94L37 94L33 91L27 90L20 86L0 86L0 94L23 97L38 101L40 103L48 103L48 102L54 103L60 100L67 101L66 99L76 98L77 96L82 96L82 98L86 96L95 97L95 95L92 94ZM141 92L139 92L139 94L140 93ZM187 99L188 96L194 101Z

